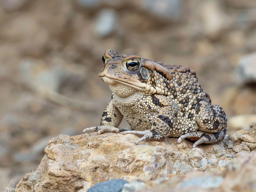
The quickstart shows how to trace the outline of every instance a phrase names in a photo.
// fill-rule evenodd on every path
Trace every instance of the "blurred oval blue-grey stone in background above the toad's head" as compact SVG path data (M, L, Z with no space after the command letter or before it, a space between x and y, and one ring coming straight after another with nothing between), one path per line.
M112 34L117 26L117 13L114 9L102 9L95 20L94 31L99 37Z

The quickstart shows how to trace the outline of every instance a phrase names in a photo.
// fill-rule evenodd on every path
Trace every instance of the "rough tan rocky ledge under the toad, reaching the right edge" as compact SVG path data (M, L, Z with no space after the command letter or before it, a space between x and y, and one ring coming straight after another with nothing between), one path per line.
M202 144L194 149L193 144L186 140L177 144L177 138L166 138L161 142L143 141L140 145L135 145L138 137L129 134L91 133L72 137L59 135L48 142L41 164L36 171L23 177L16 191L38 189L44 192L86 192L97 183L113 179L124 179L128 182L140 179L154 186L169 177L179 183L176 186L178 189L187 185L218 188L223 183L222 172L227 170L226 167L231 179L230 170L234 168L236 172L237 167L246 164L245 159L250 162L255 160L256 152L251 155L245 153L255 150L249 147L255 142L255 129L256 124L253 124L249 132L240 130L226 136L219 144ZM227 148L230 145L233 147ZM233 157L239 159L232 160ZM254 164L255 162L252 166ZM256 166L252 169L256 169ZM205 170L208 171L203 172ZM189 173L191 171L193 173ZM176 176L182 174L188 176ZM244 174L249 177L247 173ZM194 177L198 177L197 182L190 179ZM233 177L236 175L233 174ZM174 181L171 181L172 185Z

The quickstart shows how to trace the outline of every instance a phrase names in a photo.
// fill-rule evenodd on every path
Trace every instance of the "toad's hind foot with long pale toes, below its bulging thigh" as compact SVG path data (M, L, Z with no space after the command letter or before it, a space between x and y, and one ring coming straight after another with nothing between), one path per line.
M197 137L199 140L197 140L193 148L196 147L196 145L202 144L202 143L211 143L215 144L223 140L225 137L225 134L227 132L227 129L222 129L220 132L217 133L207 133L207 132L202 132L202 131L195 131L191 133L184 134L178 138L177 143L180 143L182 139L184 138L189 138L189 137Z

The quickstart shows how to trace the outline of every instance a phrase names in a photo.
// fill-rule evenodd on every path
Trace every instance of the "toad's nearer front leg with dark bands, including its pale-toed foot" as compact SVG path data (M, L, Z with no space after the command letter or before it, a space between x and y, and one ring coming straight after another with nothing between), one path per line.
M176 117L178 113L178 107L173 104L171 106L165 106L160 110L158 117L155 119L150 130L138 131L125 131L123 134L135 134L140 136L136 141L136 145L140 141L151 140L151 141L161 141L168 137L175 124Z

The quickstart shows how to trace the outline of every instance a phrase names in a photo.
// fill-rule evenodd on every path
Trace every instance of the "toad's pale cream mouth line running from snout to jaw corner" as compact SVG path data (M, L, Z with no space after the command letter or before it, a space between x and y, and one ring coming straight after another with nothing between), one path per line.
M157 92L157 90L153 86L147 85L146 83L142 83L139 80L131 81L131 79L130 79L130 81L128 83L128 82L125 82L125 81L121 81L119 79L107 77L105 74L99 75L99 78L101 79L101 81L104 81L105 83L108 83L109 85L113 85L113 84L118 82L118 83L122 83L124 85L130 86L130 87L132 87L134 89L137 89L139 91L146 92L148 94L154 94L154 93Z

